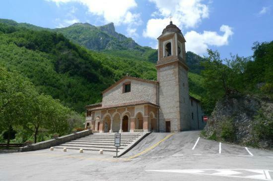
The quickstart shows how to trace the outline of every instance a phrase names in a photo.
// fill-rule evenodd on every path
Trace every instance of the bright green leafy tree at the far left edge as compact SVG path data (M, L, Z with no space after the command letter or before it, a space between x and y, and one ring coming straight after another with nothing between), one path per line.
M7 130L7 147L13 127L26 122L28 103L36 93L29 81L0 67L0 126Z

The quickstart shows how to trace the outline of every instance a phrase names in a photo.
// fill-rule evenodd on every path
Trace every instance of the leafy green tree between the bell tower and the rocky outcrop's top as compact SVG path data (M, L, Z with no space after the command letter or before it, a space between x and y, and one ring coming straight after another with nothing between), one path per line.
M244 74L251 59L231 55L231 59L222 60L218 51L208 49L207 52L208 57L202 63L205 68L202 76L206 92L202 101L205 112L209 114L216 101L223 96L245 92Z

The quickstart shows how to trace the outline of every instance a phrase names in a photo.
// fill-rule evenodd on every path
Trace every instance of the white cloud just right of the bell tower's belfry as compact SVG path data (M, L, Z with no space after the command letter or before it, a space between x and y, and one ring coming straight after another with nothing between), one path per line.
M228 39L233 35L232 28L227 25L222 25L220 31L224 32L219 35L217 32L204 31L203 34L196 31L187 32L185 35L186 50L193 51L197 54L204 54L208 45L222 46L228 45Z

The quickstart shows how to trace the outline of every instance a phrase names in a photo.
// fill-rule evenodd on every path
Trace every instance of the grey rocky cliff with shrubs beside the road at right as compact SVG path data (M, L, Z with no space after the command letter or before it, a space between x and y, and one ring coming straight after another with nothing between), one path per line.
M273 102L250 95L226 96L216 103L204 137L260 148L273 148Z

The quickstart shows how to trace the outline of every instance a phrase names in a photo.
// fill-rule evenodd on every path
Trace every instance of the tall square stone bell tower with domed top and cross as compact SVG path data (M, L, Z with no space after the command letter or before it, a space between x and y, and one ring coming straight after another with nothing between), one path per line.
M156 64L159 82L159 131L179 132L190 129L189 82L185 38L170 21L158 40Z

